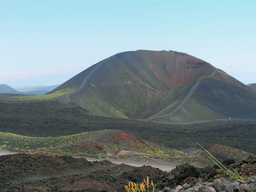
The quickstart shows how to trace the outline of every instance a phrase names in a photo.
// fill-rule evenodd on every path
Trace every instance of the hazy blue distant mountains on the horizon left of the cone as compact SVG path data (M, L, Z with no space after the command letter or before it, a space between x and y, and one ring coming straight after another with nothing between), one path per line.
M49 91L55 89L59 85L52 85L52 86L36 86L36 87L19 87L14 89L7 84L0 84L0 93L5 94L22 94L22 95L39 95L45 94Z

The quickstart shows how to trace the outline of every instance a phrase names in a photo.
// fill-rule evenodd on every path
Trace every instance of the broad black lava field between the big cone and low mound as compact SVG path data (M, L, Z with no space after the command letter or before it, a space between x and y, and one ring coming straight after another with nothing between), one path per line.
M0 103L0 131L47 137L116 129L171 148L205 148L214 143L256 153L256 121L209 120L188 124L160 124L134 119L95 116L69 103Z

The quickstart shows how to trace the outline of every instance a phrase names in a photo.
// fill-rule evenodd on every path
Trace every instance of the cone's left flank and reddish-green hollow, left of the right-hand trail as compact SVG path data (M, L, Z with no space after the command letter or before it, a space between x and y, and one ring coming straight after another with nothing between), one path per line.
M148 118L165 100L166 92L213 70L212 65L185 53L122 52L84 70L53 91L80 86L67 99L88 111Z

